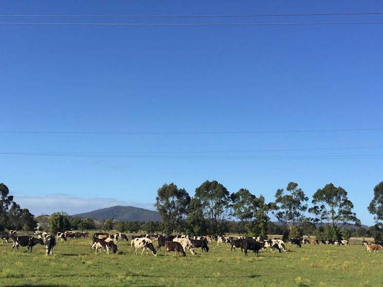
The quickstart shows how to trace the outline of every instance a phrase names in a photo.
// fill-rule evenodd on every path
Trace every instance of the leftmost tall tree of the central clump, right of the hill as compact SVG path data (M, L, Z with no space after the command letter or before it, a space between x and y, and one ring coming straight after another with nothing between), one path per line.
M173 230L179 231L188 214L190 196L184 188L178 189L174 183L164 184L157 191L156 203L162 222Z

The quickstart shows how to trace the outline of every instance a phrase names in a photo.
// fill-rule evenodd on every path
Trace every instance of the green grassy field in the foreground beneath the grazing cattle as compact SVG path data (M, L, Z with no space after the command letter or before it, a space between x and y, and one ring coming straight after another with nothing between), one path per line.
M134 255L126 241L118 254L95 255L90 238L59 241L51 256L45 246L12 252L0 246L0 286L381 286L382 253L362 245L295 245L287 252L261 252L259 257L209 243L209 253L186 257L159 251ZM357 242L357 241L355 241ZM157 244L154 243L156 246ZM163 250L163 247L162 247Z

